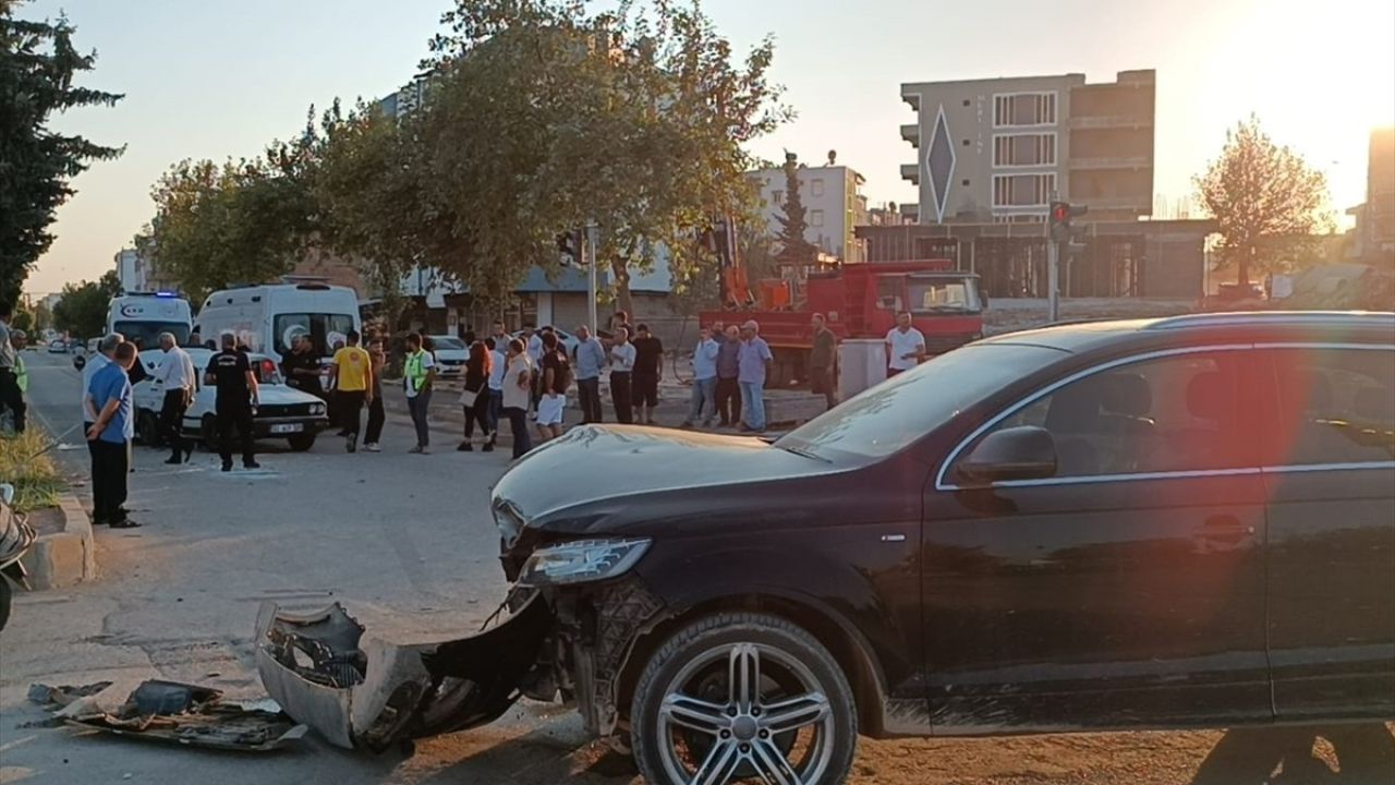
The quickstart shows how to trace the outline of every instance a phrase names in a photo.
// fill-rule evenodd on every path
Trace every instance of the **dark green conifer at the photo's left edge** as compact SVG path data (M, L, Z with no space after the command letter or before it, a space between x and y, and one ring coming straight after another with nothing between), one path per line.
M0 305L14 306L33 264L53 244L54 212L74 193L73 179L92 161L124 148L49 129L68 109L112 106L121 95L74 85L96 53L73 46L75 28L15 18L20 4L0 0Z

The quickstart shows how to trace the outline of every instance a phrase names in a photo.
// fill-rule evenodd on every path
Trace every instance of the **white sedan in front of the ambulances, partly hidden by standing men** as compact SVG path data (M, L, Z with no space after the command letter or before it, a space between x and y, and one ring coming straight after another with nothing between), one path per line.
M194 395L194 404L184 412L183 432L186 436L204 441L209 448L216 446L218 423L213 415L218 401L218 390L204 384L204 369L208 367L208 358L213 355L209 349L186 349L194 370L198 374L199 388ZM153 376L159 367L165 352L160 349L146 349L141 352L141 365ZM264 355L248 355L252 372L261 384L259 405L254 422L254 436L257 439L286 439L290 448L306 451L314 447L315 436L329 426L329 416L325 402L308 392L301 392L286 387L280 372L271 358ZM165 388L153 379L142 380L133 391L135 402L135 437L144 444L158 446L160 439L160 409L165 406Z

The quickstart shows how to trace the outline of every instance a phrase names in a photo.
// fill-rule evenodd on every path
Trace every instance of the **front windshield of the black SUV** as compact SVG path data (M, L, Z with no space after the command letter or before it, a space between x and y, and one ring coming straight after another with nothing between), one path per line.
M819 415L774 446L820 457L883 458L1060 358L1057 349L1020 344L954 349Z

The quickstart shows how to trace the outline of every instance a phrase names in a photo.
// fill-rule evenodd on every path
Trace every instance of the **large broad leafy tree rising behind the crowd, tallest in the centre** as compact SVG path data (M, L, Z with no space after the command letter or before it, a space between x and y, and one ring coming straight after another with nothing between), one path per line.
M590 14L571 0L458 0L432 41L412 120L434 163L431 215L451 217L425 258L502 296L557 236L593 225L621 310L632 270L665 254L675 286L716 275L698 236L752 212L744 145L790 117L766 39L744 61L695 1Z

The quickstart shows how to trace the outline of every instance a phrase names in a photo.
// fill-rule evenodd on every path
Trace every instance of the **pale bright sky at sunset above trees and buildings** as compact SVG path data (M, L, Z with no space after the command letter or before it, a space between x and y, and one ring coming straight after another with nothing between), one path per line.
M57 240L27 291L96 278L153 205L149 187L183 158L258 154L335 96L395 91L425 54L449 0L36 0L25 18L66 11L96 49L86 87L124 92L114 109L54 127L126 155L96 163L59 212ZM915 201L898 127L914 119L900 84L1084 73L1108 81L1158 71L1155 189L1169 200L1256 113L1279 142L1327 172L1338 214L1364 198L1370 129L1395 122L1395 1L707 0L744 50L776 36L774 80L798 119L755 145L809 162L829 149L866 177L872 203ZM1345 218L1345 217L1343 217Z

